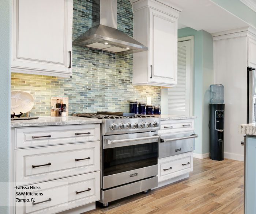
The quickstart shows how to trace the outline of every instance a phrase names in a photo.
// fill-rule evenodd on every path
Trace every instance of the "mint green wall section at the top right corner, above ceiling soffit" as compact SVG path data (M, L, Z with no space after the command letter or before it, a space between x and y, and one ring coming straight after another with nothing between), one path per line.
M211 0L212 2L233 13L240 19L256 27L256 12L239 0Z

